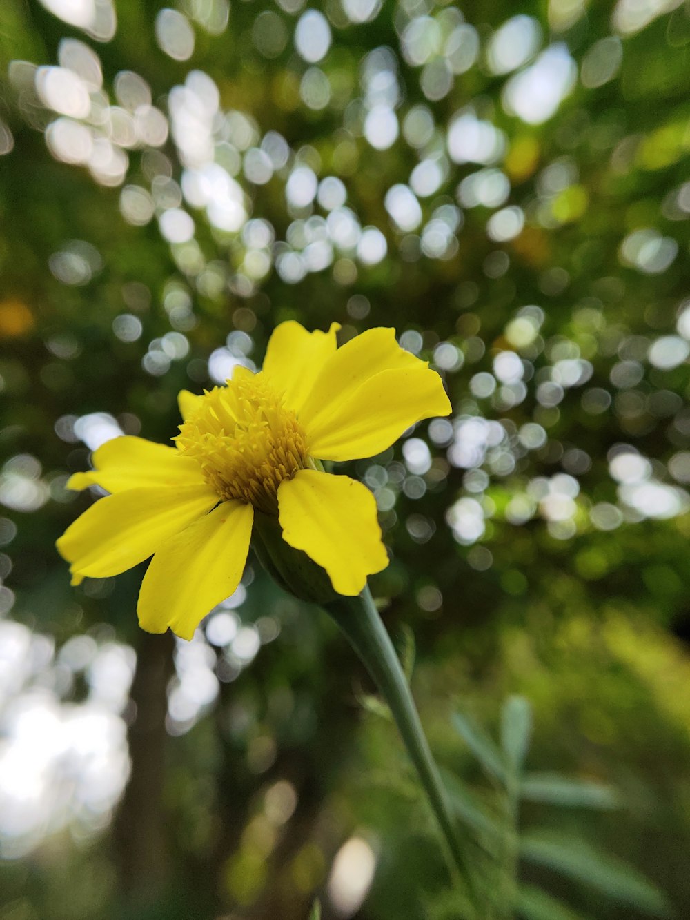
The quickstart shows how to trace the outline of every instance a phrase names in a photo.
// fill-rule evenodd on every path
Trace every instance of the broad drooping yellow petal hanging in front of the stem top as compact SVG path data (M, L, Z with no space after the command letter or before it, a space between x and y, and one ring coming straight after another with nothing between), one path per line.
M353 596L388 565L376 500L361 482L312 469L278 489L282 538L326 569L335 591Z

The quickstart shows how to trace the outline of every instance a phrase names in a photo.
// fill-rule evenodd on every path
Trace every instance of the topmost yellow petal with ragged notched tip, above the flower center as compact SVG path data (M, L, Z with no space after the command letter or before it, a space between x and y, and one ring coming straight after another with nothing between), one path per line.
M339 323L328 332L307 332L293 319L273 330L263 362L263 374L285 394L285 402L299 412L322 367L336 353Z

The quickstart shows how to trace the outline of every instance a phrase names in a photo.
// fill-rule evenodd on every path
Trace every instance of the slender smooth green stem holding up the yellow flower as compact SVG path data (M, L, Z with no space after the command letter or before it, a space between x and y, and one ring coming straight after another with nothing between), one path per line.
M408 681L376 610L369 587L366 586L357 597L339 595L335 601L324 604L324 607L350 640L352 648L384 697L439 822L447 855L451 857L451 866L467 880L466 860L455 833L448 795L421 727Z

